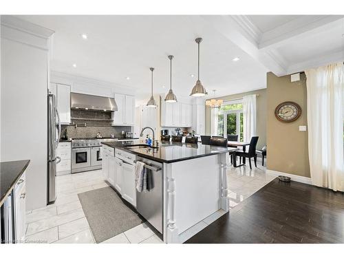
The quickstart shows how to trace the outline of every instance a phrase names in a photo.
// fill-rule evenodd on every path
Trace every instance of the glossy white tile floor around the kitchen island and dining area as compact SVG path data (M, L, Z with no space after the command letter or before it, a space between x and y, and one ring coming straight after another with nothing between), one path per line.
M259 164L252 170L249 166L228 169L230 209L274 178L266 175L265 171L265 167ZM26 215L26 241L28 243L95 243L78 200L78 193L105 186L108 185L103 180L101 170L56 177L56 202L45 208L30 211ZM217 211L189 228L180 236L182 241L189 239L223 214L224 211ZM146 224L140 224L103 243L158 244L162 241Z

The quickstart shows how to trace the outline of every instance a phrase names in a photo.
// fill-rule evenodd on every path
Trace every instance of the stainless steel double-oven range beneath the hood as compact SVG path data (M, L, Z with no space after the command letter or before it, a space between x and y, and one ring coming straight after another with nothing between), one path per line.
M72 173L102 168L101 142L117 141L116 138L76 138L72 140Z

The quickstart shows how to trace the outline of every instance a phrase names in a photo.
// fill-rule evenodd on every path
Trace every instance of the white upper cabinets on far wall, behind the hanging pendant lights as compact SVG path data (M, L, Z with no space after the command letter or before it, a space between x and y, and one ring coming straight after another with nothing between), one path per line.
M166 103L161 99L161 123L162 127L191 127L193 120L192 105L182 101Z

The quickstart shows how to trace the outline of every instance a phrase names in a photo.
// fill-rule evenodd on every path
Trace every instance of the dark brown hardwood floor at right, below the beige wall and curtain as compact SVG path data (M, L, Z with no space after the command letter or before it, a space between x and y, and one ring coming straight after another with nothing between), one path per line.
M344 243L344 194L275 179L186 243Z

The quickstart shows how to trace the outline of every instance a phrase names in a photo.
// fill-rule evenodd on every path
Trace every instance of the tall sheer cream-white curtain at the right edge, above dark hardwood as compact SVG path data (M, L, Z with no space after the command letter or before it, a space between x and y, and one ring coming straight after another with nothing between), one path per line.
M312 184L344 191L343 63L308 69L305 74Z

